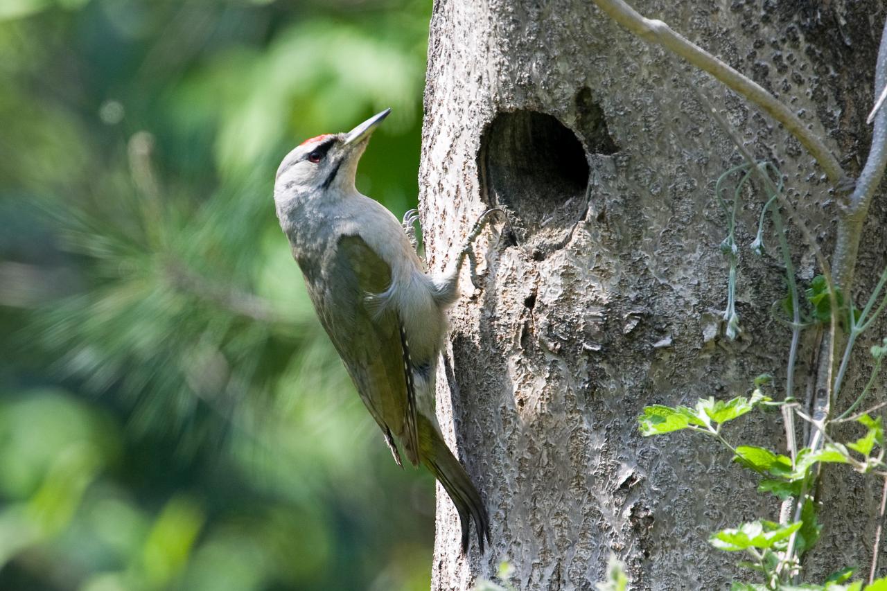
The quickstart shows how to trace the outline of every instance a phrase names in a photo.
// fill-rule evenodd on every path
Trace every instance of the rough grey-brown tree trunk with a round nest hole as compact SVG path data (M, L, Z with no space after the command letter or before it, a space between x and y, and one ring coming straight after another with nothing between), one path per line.
M859 172L881 2L634 7L776 94ZM745 193L738 221L743 332L725 336L726 219L713 187L741 160L691 85L725 109L752 154L777 164L828 254L837 205L821 170L707 75L588 0L436 2L420 169L429 266L442 269L491 206L508 211L517 243L479 244L483 291L463 277L451 311L438 414L487 501L492 548L480 556L473 541L459 556L458 519L439 491L434 589L495 579L501 560L519 589L593 589L611 553L632 589L725 588L741 576L737 555L711 548L710 532L778 519L778 502L756 493L757 479L717 442L638 431L644 406L742 395L757 374L775 374L770 393L784 396L789 330L771 312L786 291L776 240L767 234L763 257L748 248L757 190ZM858 267L865 296L887 251L885 221L878 199ZM810 280L819 272L810 248L797 229L789 240L799 280ZM804 333L798 398L815 374L814 333ZM864 366L874 335L860 343ZM863 367L850 383L867 375ZM727 437L785 452L778 413L749 415ZM825 530L806 572L869 563L879 497L880 485L846 470L826 479Z

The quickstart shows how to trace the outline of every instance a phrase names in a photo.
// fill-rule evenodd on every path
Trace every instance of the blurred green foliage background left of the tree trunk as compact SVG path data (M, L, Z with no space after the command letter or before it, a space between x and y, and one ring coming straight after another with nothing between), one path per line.
M274 217L279 160L391 106L415 202L430 2L0 2L0 589L428 587L401 471Z

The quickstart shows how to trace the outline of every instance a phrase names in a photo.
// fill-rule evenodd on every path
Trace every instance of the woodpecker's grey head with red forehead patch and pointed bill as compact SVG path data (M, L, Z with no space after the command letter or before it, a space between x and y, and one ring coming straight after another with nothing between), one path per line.
M348 133L306 139L280 162L274 181L275 201L322 199L329 191L353 193L357 162L370 135L391 112L385 109Z

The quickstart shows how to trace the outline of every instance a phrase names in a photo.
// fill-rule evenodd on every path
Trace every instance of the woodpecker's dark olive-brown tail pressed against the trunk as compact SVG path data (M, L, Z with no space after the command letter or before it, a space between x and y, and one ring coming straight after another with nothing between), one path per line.
M450 495L452 504L459 513L462 526L462 554L468 552L468 532L470 520L475 522L477 541L483 554L484 538L490 542L490 517L483 505L481 494L477 492L471 477L450 452L437 429L425 417L419 415L421 461L435 475L443 489Z

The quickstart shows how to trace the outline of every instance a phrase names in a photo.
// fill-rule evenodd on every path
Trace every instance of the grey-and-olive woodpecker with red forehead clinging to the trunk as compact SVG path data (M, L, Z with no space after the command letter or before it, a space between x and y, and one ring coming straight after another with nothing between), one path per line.
M467 257L476 286L472 242L501 210L484 212L449 271L425 272L409 235L415 212L398 222L354 185L370 135L390 111L348 133L296 146L277 171L275 209L320 322L397 465L403 467L395 442L413 466L424 464L449 494L459 513L462 553L473 519L483 554L490 518L443 441L435 376L447 330L445 311L459 296L461 265Z

